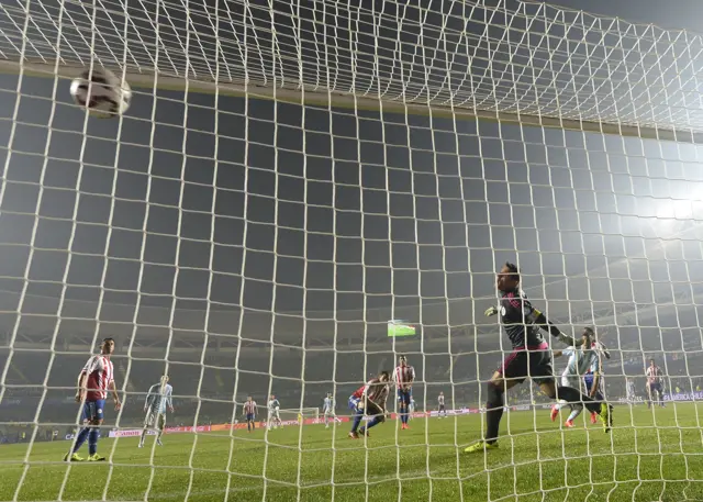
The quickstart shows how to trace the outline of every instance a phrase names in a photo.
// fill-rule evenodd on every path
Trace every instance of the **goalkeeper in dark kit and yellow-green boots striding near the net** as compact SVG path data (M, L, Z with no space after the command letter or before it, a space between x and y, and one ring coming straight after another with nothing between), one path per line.
M551 367L549 346L539 330L548 331L560 342L578 346L583 342L574 341L559 331L545 315L534 309L520 289L520 272L513 264L505 264L495 278L501 295L500 304L486 311L486 315L500 312L501 324L507 334L513 352L488 382L486 403L486 437L466 448L467 453L483 451L498 447L498 431L505 405L505 391L531 378L549 399L561 399L568 403L583 404L590 412L600 415L605 432L612 424L612 406L596 402L571 387L557 387Z

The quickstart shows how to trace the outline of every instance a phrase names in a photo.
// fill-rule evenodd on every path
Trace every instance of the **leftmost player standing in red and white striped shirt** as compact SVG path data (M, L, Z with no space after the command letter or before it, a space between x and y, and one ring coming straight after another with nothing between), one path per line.
M105 338L102 341L100 354L92 356L83 366L78 376L78 391L76 392L76 402L82 403L82 422L83 428L76 436L76 443L69 454L66 454L64 460L80 461L82 458L78 455L78 449L88 439L88 460L103 461L105 458L98 455L98 437L99 427L102 425L103 410L108 391L112 392L114 400L114 409L120 410L122 403L118 395L118 389L114 384L114 368L110 356L114 352L114 339Z

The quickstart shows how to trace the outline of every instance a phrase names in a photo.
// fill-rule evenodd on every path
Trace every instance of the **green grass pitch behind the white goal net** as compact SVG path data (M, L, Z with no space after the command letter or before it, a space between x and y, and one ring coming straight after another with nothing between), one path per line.
M561 430L548 410L513 412L487 456L462 451L480 435L480 415L414 420L410 431L389 421L366 445L346 437L348 424L174 434L156 448L150 436L143 449L135 437L101 439L111 462L70 466L59 461L68 442L36 443L26 472L27 445L3 445L0 500L57 500L65 479L68 501L103 500L103 491L110 501L703 500L699 415L703 408L690 403L617 406L605 434L600 425Z

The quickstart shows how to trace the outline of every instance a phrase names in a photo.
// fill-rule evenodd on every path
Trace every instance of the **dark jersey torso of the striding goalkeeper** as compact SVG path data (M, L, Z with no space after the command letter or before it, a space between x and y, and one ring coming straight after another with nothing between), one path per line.
M514 349L536 349L545 343L539 327L534 325L539 311L532 306L524 292L518 289L503 292L500 312L501 324Z

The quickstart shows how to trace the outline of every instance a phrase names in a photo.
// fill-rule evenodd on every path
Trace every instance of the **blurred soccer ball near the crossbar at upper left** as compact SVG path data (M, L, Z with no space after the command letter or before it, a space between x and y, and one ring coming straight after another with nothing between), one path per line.
M127 111L132 89L109 69L96 67L92 72L86 69L70 82L70 96L91 115L110 119Z

